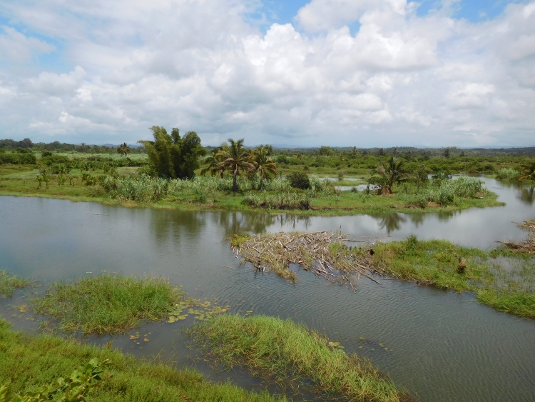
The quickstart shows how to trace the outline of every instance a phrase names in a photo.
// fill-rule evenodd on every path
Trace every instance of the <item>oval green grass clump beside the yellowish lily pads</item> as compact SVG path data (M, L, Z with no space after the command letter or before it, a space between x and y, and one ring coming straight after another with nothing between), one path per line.
M54 283L32 305L61 331L116 334L164 318L183 295L165 278L101 275Z

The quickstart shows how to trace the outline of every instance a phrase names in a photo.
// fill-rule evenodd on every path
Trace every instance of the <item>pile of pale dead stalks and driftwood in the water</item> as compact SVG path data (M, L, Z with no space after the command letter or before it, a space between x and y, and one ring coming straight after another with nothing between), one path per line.
M290 270L290 263L296 263L332 283L348 283L355 291L350 279L353 273L357 279L362 275L379 282L367 272L374 271L370 256L361 248L346 245L353 241L332 231L267 233L247 238L236 245L235 252L261 271L274 271L290 281L297 279Z

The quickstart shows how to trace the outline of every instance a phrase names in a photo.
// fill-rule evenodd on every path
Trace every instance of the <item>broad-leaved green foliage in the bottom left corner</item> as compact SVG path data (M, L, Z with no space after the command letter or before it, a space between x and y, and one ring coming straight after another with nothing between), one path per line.
M48 386L42 386L41 391L26 393L24 396L11 393L9 384L4 384L0 386L0 402L86 401L86 393L99 385L103 368L109 363L110 361L105 360L98 364L98 359L92 358L89 363L76 368L67 380L60 377Z

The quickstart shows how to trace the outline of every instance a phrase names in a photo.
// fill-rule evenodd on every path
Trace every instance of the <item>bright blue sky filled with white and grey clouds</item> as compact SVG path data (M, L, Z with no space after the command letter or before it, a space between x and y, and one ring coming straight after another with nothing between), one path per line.
M535 146L535 1L2 0L0 139Z

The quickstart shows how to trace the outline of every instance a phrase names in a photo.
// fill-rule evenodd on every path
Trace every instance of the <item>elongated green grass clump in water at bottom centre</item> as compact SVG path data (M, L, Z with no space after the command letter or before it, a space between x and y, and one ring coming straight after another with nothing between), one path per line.
M370 361L345 353L339 343L290 320L217 316L193 326L190 333L216 363L245 366L295 391L308 388L347 401L414 400Z

